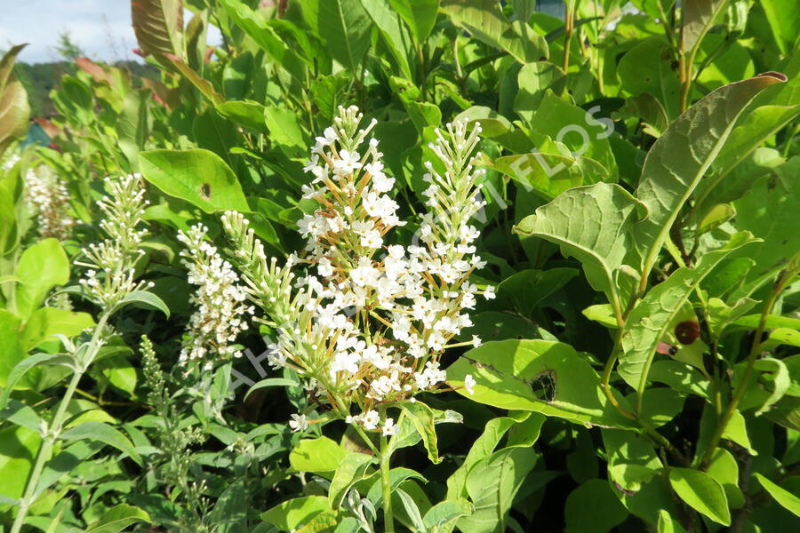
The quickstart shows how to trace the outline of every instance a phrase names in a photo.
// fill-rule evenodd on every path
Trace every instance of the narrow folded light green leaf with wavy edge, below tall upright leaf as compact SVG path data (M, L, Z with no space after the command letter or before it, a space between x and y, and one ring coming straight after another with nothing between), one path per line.
M754 242L756 239L749 232L733 235L723 248L700 258L695 267L678 268L666 282L650 290L630 314L622 334L623 354L620 355L618 370L628 385L636 388L640 399L656 348L672 319L711 269L732 251Z

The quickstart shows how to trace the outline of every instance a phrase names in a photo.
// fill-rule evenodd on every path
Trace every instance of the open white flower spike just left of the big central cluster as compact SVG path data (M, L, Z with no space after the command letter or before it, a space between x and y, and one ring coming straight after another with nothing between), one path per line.
M245 315L252 314L254 309L244 303L247 292L239 284L238 274L205 240L207 232L207 227L196 225L187 233L178 233L178 240L186 245L180 256L181 263L188 268L188 282L198 286L189 298L189 303L197 309L189 318L188 338L180 350L180 362L205 360L205 367L210 368L212 362L206 358L209 354L223 359L241 357L233 343L247 329Z

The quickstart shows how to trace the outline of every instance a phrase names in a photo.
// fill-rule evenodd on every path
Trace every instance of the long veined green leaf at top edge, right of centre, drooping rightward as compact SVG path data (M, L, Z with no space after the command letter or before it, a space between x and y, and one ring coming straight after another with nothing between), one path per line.
M512 24L494 0L443 0L442 10L452 23L466 29L476 39L511 54L520 63L547 58L548 44L544 37L524 27L526 21Z

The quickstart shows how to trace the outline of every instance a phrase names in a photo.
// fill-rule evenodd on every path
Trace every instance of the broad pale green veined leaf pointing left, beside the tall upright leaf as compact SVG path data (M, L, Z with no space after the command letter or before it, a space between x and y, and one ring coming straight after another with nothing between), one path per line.
M564 256L580 260L592 287L617 305L617 269L633 246L628 230L644 212L643 204L622 187L596 183L557 196L525 217L515 231L559 244Z

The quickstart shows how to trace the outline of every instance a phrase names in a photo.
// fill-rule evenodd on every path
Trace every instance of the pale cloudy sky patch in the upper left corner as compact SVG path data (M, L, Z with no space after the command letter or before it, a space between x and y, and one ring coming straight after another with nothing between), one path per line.
M53 47L64 31L92 60L140 60L130 0L0 0L0 50L29 43L20 61L60 60Z

